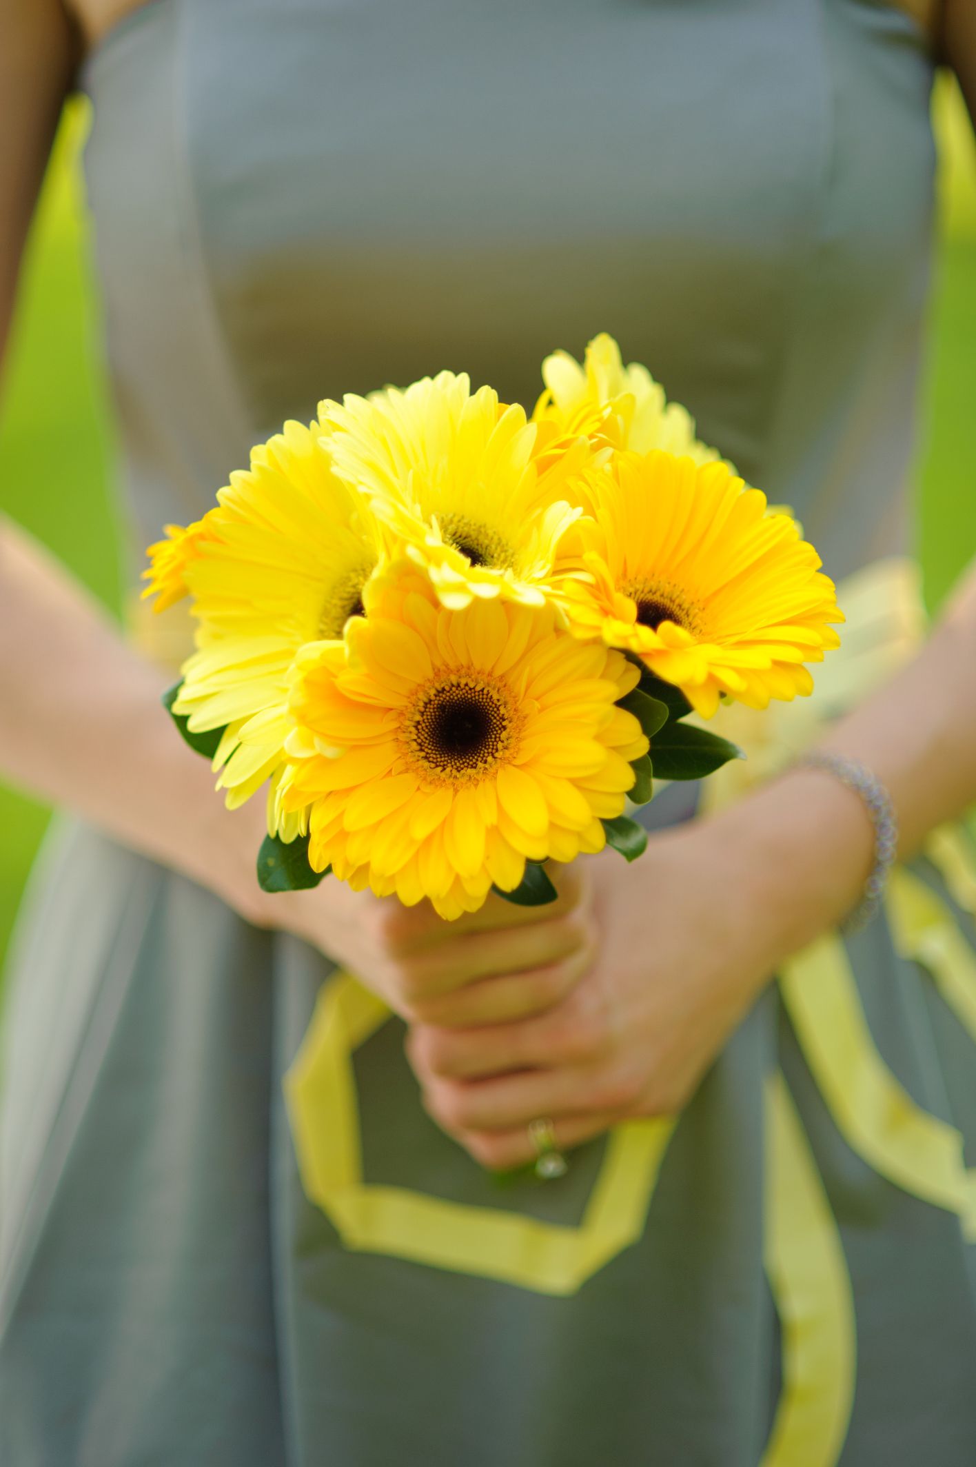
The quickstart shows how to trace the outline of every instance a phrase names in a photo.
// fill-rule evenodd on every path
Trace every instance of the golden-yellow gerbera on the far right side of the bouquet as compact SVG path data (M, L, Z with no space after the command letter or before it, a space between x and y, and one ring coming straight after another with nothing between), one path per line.
M621 453L591 475L583 575L558 596L577 637L625 647L706 717L721 694L763 709L813 688L840 645L834 582L795 522L726 464Z

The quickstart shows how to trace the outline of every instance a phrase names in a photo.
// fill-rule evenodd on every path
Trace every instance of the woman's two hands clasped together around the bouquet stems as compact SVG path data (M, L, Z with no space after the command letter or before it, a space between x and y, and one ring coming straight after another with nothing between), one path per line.
M572 1147L678 1111L769 971L694 826L652 836L633 866L605 852L558 882L556 905L492 896L456 923L336 888L338 956L407 1021L430 1115L492 1169L531 1160L536 1118ZM335 912L330 939L335 954Z

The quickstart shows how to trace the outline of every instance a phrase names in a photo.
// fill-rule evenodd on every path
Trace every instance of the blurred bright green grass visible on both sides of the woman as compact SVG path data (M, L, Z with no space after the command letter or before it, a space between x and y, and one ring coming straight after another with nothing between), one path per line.
M916 471L919 550L936 606L976 553L976 148L955 87L935 92L939 257ZM68 109L25 261L0 398L0 511L117 610L112 420L98 346L78 158ZM0 785L0 959L47 810Z

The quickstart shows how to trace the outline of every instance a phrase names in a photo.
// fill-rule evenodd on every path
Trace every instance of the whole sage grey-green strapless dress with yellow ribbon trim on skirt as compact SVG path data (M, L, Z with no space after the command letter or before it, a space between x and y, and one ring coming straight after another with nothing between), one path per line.
M600 330L835 578L898 552L931 81L870 0L151 0L84 72L134 577L318 398L530 405ZM505 1188L324 956L65 823L9 974L0 1461L972 1467L967 861L771 983L674 1130Z

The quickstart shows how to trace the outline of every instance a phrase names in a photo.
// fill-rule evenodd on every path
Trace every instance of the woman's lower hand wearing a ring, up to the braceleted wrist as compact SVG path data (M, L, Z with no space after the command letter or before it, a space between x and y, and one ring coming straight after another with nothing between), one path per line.
M605 852L590 863L597 955L561 1003L493 1027L412 1027L427 1109L495 1169L531 1160L533 1119L550 1118L571 1147L680 1111L776 964L842 914L866 866L857 798L816 772L652 836L633 866Z

